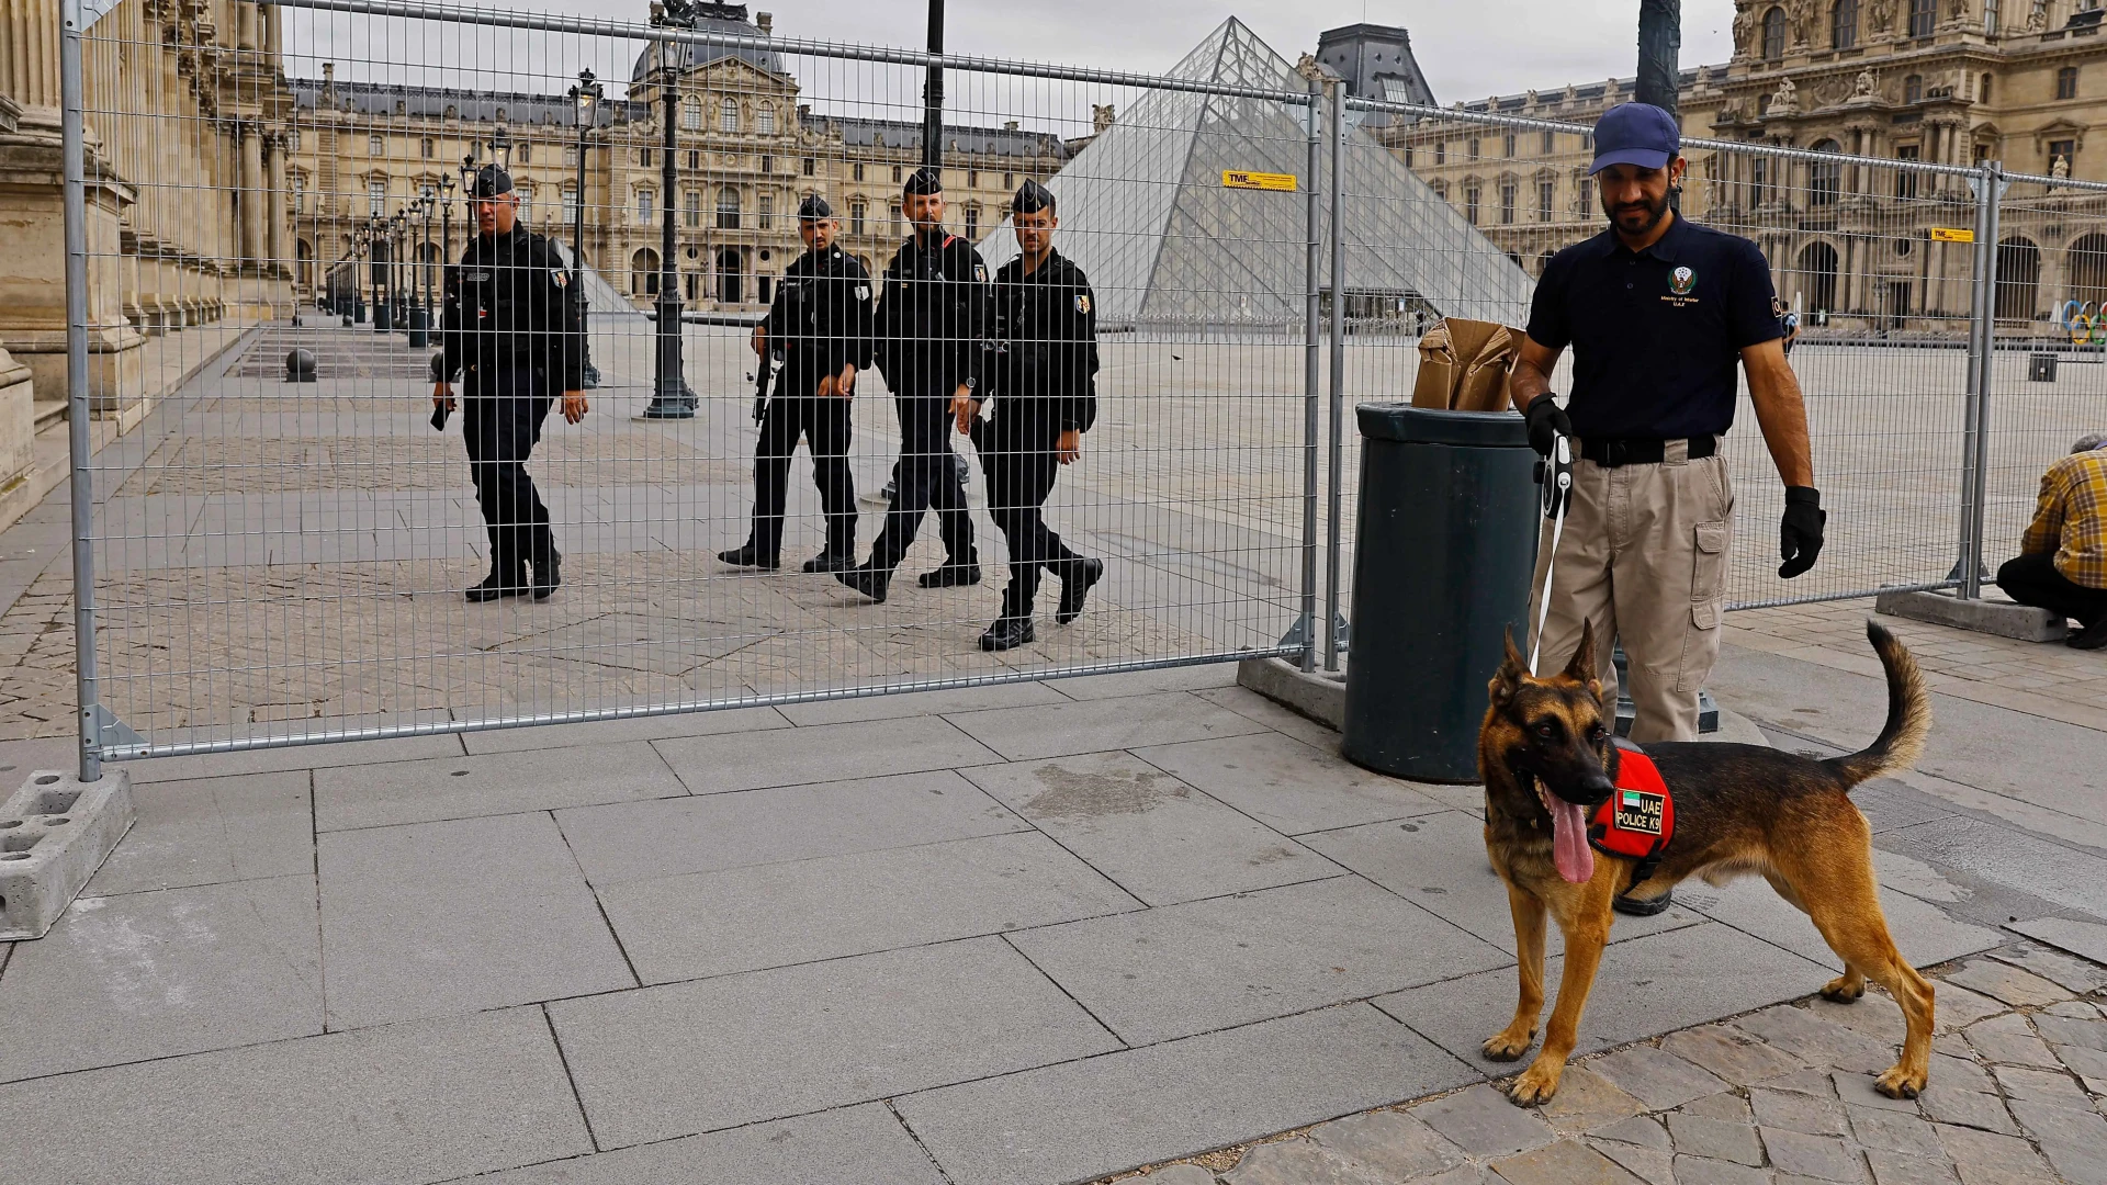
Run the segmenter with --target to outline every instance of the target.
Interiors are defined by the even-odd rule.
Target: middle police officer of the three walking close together
[[[973,523],[950,451],[952,399],[980,386],[988,327],[988,266],[973,245],[944,230],[944,173],[923,167],[908,177],[902,213],[914,234],[885,266],[877,314],[877,358],[900,413],[900,477],[885,529],[860,567],[836,571],[849,588],[885,601],[893,569],[914,542],[925,510],[938,512],[944,565],[925,571],[923,588],[980,584]]]

